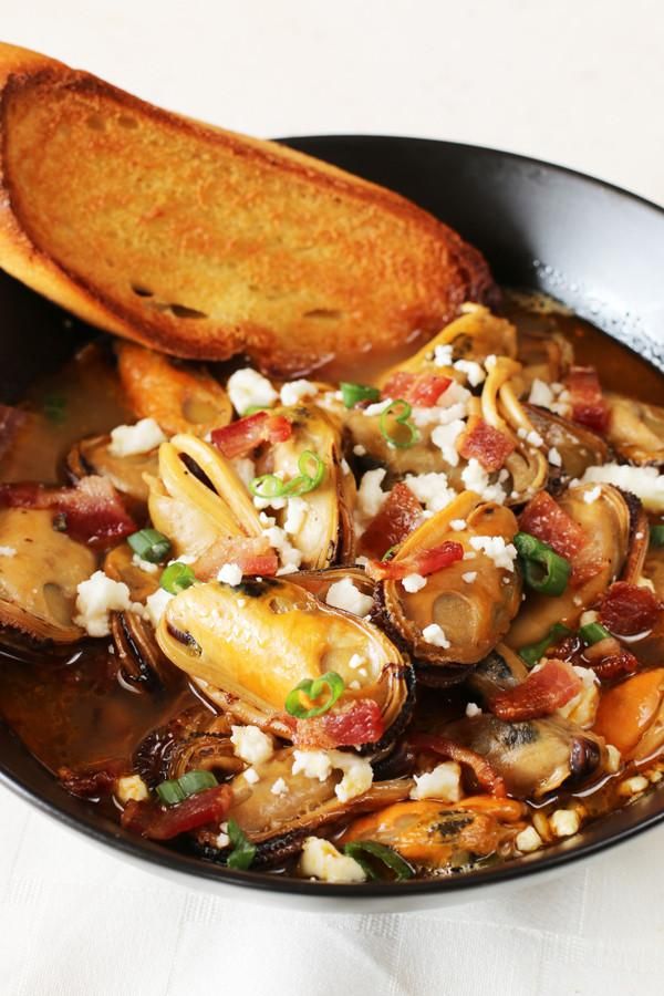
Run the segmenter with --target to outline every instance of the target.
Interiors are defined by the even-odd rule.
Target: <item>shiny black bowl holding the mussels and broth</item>
[[[664,370],[661,208],[569,169],[476,146],[357,135],[288,144],[405,194],[478,246],[499,282],[551,293]],[[13,402],[35,375],[58,366],[81,343],[81,328],[3,274],[0,314],[0,400]],[[436,881],[329,885],[234,872],[132,837],[93,803],[65,795],[2,724],[0,778],[43,811],[146,868],[188,873],[190,884],[204,888],[229,883],[281,894],[284,902],[289,895],[318,899],[323,907],[325,898],[336,905],[340,896],[385,900],[393,909],[402,906],[396,896],[408,896],[411,907],[443,905],[459,891],[476,899],[481,886],[551,871],[664,820],[664,793],[655,791],[579,837],[517,862]],[[353,905],[362,903],[355,899]]]

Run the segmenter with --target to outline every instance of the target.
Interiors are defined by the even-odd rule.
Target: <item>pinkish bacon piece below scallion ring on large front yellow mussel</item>
[[[298,719],[293,744],[307,750],[332,750],[375,744],[385,733],[383,715],[373,698],[356,698],[339,712]]]

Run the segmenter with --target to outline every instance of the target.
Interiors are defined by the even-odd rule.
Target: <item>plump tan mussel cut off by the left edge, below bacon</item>
[[[76,588],[94,572],[94,553],[53,528],[46,509],[0,510],[0,623],[38,640],[72,643]]]

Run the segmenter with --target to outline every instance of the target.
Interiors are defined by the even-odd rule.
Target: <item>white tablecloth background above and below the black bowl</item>
[[[256,135],[453,138],[664,201],[661,0],[0,0],[0,38]],[[664,831],[437,914],[277,914],[129,870],[0,791],[7,996],[664,992]]]

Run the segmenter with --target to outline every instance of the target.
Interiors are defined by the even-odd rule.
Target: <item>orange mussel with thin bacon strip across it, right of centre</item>
[[[387,624],[416,662],[475,664],[502,639],[521,598],[521,579],[509,549],[517,528],[508,508],[464,491],[406,538],[395,563],[445,541],[460,543],[465,554],[464,560],[430,574],[414,593],[401,581],[378,583],[377,598]],[[505,566],[497,566],[487,554],[492,542],[501,548]],[[443,631],[436,643],[424,636],[432,625]]]

